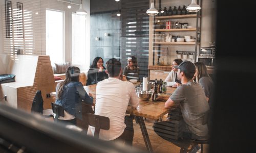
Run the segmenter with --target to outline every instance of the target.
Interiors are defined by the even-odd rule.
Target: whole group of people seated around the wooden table
[[[135,86],[127,81],[128,77],[134,77],[127,74],[139,73],[136,58],[129,57],[127,66],[122,70],[121,63],[117,59],[110,59],[104,67],[103,59],[97,57],[90,68],[97,73],[95,77],[88,72],[87,81],[87,85],[97,84],[95,114],[110,118],[110,130],[101,130],[99,138],[107,141],[124,141],[132,145],[133,116],[127,116],[125,111],[129,104],[133,108],[139,105]],[[87,94],[79,82],[79,73],[78,67],[69,67],[65,81],[56,87],[56,104],[61,105],[65,109],[65,115],[70,118],[76,117],[75,110],[76,104],[80,103],[79,99],[83,99],[87,104],[93,103],[92,94]],[[188,134],[184,137],[196,139],[208,137],[208,127],[203,124],[203,117],[212,103],[213,82],[206,66],[201,62],[193,64],[175,59],[172,71],[165,81],[167,86],[177,87],[165,102],[165,108],[180,107],[185,121],[184,129]],[[94,127],[90,127],[88,133],[93,134]]]

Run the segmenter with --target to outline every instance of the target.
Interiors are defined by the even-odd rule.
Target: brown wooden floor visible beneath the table
[[[163,117],[163,121],[166,120],[166,116]],[[133,139],[133,147],[139,148],[141,150],[146,151],[145,142],[143,136],[141,134],[140,126],[133,121],[134,123],[134,139]],[[147,133],[150,137],[150,141],[152,144],[152,148],[154,152],[169,152],[169,153],[176,153],[180,152],[180,147],[176,146],[175,144],[164,140],[163,138],[159,137],[154,129],[153,129],[154,120],[146,119],[145,125],[147,129]],[[207,153],[208,146],[204,145],[203,152]]]

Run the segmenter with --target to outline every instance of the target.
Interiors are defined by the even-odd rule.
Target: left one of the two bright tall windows
[[[52,66],[64,61],[63,14],[62,11],[46,10],[46,55],[50,56]]]

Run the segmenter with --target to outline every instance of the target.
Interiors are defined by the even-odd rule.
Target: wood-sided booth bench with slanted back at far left
[[[15,82],[0,84],[0,97],[7,95],[6,104],[30,112],[36,90],[41,90],[44,109],[51,109],[55,83],[49,56],[0,56],[0,73],[15,74]]]

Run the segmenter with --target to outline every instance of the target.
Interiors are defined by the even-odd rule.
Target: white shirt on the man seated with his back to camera
[[[110,118],[110,130],[100,129],[99,139],[114,140],[123,133],[128,104],[133,108],[139,105],[139,98],[131,82],[109,78],[97,84],[95,114]],[[90,129],[94,134],[95,128],[90,126]]]

